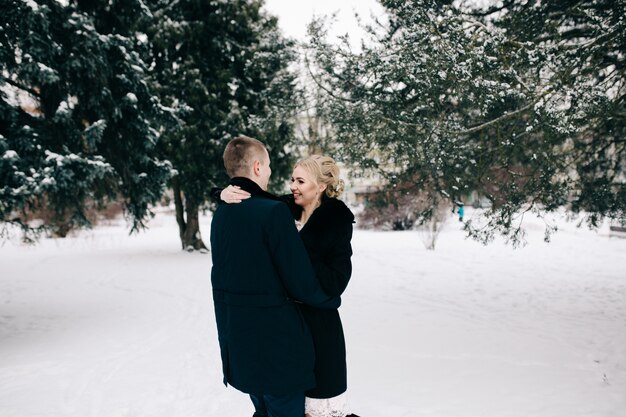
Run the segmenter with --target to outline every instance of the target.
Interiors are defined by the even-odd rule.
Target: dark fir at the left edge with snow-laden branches
[[[145,12],[141,1],[65,3],[0,2],[0,221],[64,234],[122,199],[137,229],[171,173],[153,127],[171,117],[128,26]],[[27,221],[45,207],[47,224]]]

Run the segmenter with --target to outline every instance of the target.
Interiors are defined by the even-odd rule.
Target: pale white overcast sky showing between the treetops
[[[337,14],[337,22],[333,24],[331,34],[341,35],[346,32],[355,40],[361,37],[354,12],[369,21],[371,12],[381,15],[382,7],[376,0],[265,0],[266,9],[278,16],[279,25],[285,35],[304,40],[306,26],[314,15]]]

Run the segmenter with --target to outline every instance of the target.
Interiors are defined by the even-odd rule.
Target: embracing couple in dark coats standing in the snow
[[[211,223],[224,383],[250,395],[254,417],[345,417],[337,309],[354,216],[336,198],[339,168],[319,155],[299,161],[292,194],[274,196],[267,149],[246,136],[228,143],[224,166],[230,185],[215,191],[222,204]]]

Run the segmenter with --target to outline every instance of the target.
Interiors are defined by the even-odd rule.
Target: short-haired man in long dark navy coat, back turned
[[[260,141],[228,143],[230,184],[251,194],[222,204],[211,223],[211,283],[224,384],[250,394],[254,417],[302,417],[315,386],[314,350],[294,300],[338,307],[315,278],[287,205],[267,192],[269,154]]]

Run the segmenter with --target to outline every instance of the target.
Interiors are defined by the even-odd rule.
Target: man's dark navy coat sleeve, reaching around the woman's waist
[[[338,308],[339,297],[330,297],[315,277],[311,261],[285,204],[277,204],[269,215],[265,236],[287,294],[305,304]]]

